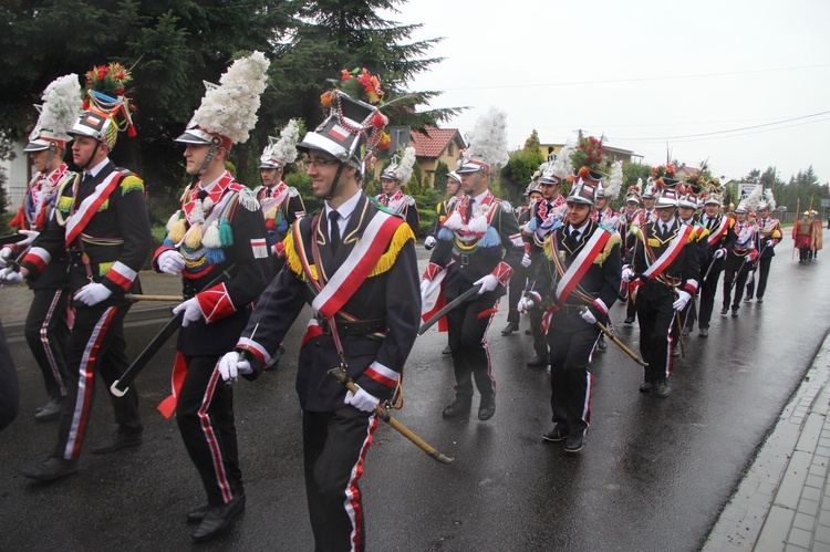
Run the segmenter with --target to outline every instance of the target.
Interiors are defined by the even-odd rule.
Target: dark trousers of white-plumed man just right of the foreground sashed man
[[[497,304],[489,293],[485,293],[447,313],[457,395],[471,397],[474,378],[481,396],[496,394],[486,334]]]

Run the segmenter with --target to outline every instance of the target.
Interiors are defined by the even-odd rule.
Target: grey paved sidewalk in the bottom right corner
[[[830,336],[704,551],[830,552]]]

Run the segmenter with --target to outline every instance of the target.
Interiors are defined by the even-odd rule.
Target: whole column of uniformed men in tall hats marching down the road
[[[490,189],[508,160],[506,115],[495,107],[478,119],[447,177],[448,197],[426,232],[430,257],[421,273],[421,220],[405,192],[415,149],[392,153],[381,194],[364,191],[390,123],[381,113],[380,81],[365,70],[343,72],[344,80],[360,80],[361,97],[339,87],[321,96],[328,116],[302,140],[295,121],[269,138],[261,184],[246,186],[226,169],[234,145],[257,123],[268,67],[253,52],[235,61],[218,85],[207,85],[175,139],[184,146],[189,184],[152,256],[155,271],[181,279],[172,389],[158,410],[175,415],[205,489],[205,502],[181,512],[197,525],[196,542],[225,532],[246,507],[231,384],[239,376],[256,381],[276,365],[305,305],[312,317],[297,352],[295,388],[307,503],[315,550],[333,551],[365,548],[359,480],[377,408],[400,396],[422,320],[435,322],[442,311],[438,329],[448,334],[455,382],[440,412],[444,424],[466,420],[476,395],[477,418],[487,423],[496,414],[498,372],[488,330],[507,311],[501,335],[515,339],[507,336],[527,314],[527,365],[550,373],[553,426],[541,441],[564,441],[564,451],[575,455],[591,425],[594,353],[608,346],[605,333],[615,340],[615,302],[625,309],[625,324],[639,323],[639,390],[665,399],[684,340],[695,323],[699,337],[708,336],[716,299],[720,314],[732,317],[741,302],[764,301],[782,238],[770,217],[771,190],[756,186],[724,212],[717,181],[699,175],[682,181],[671,164],[623,190],[622,164],[603,160],[602,139],[581,137],[541,164],[526,205],[513,209]],[[138,273],[152,243],[144,181],[110,160],[118,133],[135,134],[129,81],[112,63],[86,74],[83,93],[74,74],[46,87],[25,147],[35,174],[11,222],[23,236],[0,248],[2,283],[25,281],[33,291],[25,337],[48,396],[34,418],[59,420],[54,451],[23,472],[39,481],[77,471],[95,374],[110,386],[129,366],[127,294],[141,295]],[[63,162],[68,149],[77,171]],[[299,154],[322,202],[309,213],[283,181]],[[611,204],[621,194],[624,205],[615,210]],[[792,229],[801,263],[821,249],[816,215],[806,211]],[[427,304],[434,306],[422,313]],[[0,356],[7,350],[0,340]],[[335,367],[349,387],[332,377]],[[0,428],[17,415],[13,376],[0,373],[0,396],[10,397],[0,403]],[[110,398],[117,427],[95,454],[143,441],[135,387]]]

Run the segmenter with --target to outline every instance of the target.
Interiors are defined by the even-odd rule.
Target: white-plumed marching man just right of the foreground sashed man
[[[525,250],[512,208],[489,189],[492,165],[508,160],[506,117],[492,107],[476,123],[457,169],[465,196],[444,221],[422,277],[422,293],[427,294],[433,281],[446,270],[447,302],[478,288],[473,298],[447,313],[456,383],[455,400],[442,413],[445,418],[469,415],[474,383],[481,395],[478,419],[488,420],[496,414],[487,330]]]

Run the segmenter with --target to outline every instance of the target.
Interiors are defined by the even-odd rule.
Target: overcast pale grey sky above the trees
[[[668,143],[716,176],[812,165],[830,183],[830,0],[409,0],[392,19],[445,38],[411,83],[470,107],[445,127],[496,105],[511,148],[582,128],[650,165]]]

